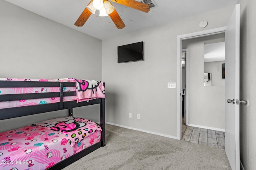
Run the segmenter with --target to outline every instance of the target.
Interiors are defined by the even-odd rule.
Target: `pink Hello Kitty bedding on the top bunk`
[[[63,101],[76,100],[83,102],[95,98],[105,98],[104,82],[96,80],[80,80],[75,78],[63,79],[22,79],[22,78],[0,78],[3,81],[44,81],[44,82],[76,82],[76,87],[63,87],[64,92],[76,91],[76,96],[63,97]],[[29,94],[29,93],[46,93],[46,92],[60,92],[59,87],[26,87],[26,88],[0,88],[0,95],[2,94]],[[60,98],[42,98],[19,101],[4,101],[0,102],[0,109],[10,107],[22,107],[38,104],[49,104],[60,102]]]

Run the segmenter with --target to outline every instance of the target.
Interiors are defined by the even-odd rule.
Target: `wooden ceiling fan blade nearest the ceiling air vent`
[[[136,0],[111,0],[112,2],[116,2],[118,4],[122,4],[131,8],[134,8],[136,10],[140,10],[142,12],[148,13],[150,8],[147,4],[144,4],[142,2],[138,2]]]

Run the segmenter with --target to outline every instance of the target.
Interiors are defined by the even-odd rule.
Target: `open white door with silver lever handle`
[[[240,53],[240,4],[237,4],[225,32],[226,41],[226,127],[225,150],[232,170],[240,170],[239,141],[239,53]]]

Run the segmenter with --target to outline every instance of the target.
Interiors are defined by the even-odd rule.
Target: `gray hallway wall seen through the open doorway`
[[[188,125],[225,129],[225,86],[204,86],[204,44],[225,41],[224,34],[199,37],[182,41],[182,49],[188,49]],[[220,75],[222,76],[222,75]],[[212,74],[212,82],[214,75]]]

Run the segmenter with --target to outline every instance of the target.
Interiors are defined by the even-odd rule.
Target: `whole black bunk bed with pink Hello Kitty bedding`
[[[6,89],[15,92],[5,93]],[[86,90],[90,95],[79,98],[84,97],[81,92]],[[97,92],[100,95],[95,95]],[[31,102],[38,99],[43,100]],[[46,102],[47,99],[52,102]],[[15,106],[10,104],[15,102],[18,103]],[[100,105],[100,123],[73,117],[73,108],[94,104]],[[58,170],[106,145],[104,82],[0,78],[0,120],[64,109],[68,109],[68,117],[35,122],[6,132],[0,130],[0,170]]]

